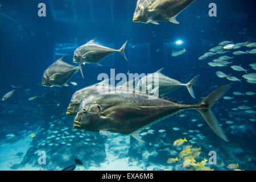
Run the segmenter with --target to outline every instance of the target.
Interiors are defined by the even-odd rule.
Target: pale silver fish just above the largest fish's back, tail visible
[[[163,68],[162,68],[163,69]],[[186,86],[188,89],[189,94],[191,97],[196,98],[195,94],[193,92],[193,84],[195,84],[197,78],[199,75],[192,78],[191,81],[189,81],[187,84],[183,84],[180,81],[177,81],[175,79],[172,79],[170,77],[167,77],[161,73],[162,69],[159,69],[155,73],[152,73],[150,75],[147,75],[145,77],[142,77],[141,80],[139,80],[136,90],[143,90],[143,86],[146,86],[147,89],[154,89],[155,79],[158,78],[158,86],[159,86],[159,95],[164,96],[164,94],[170,93],[178,88],[180,86]],[[148,77],[152,77],[150,82],[148,82]]]

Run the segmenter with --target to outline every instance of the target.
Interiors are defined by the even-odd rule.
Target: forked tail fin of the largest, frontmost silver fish
[[[200,102],[201,107],[197,109],[210,126],[210,129],[212,129],[214,133],[218,135],[218,137],[224,139],[226,142],[229,142],[229,140],[210,108],[231,88],[230,85],[231,84],[222,85],[220,88],[214,90],[207,97],[205,97],[203,101]]]

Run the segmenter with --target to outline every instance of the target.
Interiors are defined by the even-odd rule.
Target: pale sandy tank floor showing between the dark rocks
[[[126,153],[129,147],[130,137],[121,137],[120,135],[112,135],[113,138],[109,139],[107,143],[105,143],[105,151],[106,151],[106,162],[101,163],[100,167],[90,166],[89,168],[85,168],[84,166],[77,166],[75,171],[144,171],[143,166],[138,166],[137,163],[128,162],[129,158],[118,159],[118,155],[114,155],[113,150],[117,150],[118,153]],[[11,139],[11,138],[10,138]],[[122,144],[120,146],[119,142],[123,140],[126,144]],[[32,142],[31,137],[24,137],[22,139],[16,140],[13,143],[3,143],[1,142],[0,146],[0,170],[1,171],[39,171],[44,170],[38,167],[32,167],[27,164],[25,167],[19,167],[18,169],[11,169],[10,167],[13,164],[19,164],[22,162],[23,156],[26,154],[28,148],[30,148]],[[18,152],[22,152],[23,154],[18,156],[16,155]],[[172,170],[172,167],[169,166],[149,166],[147,170],[152,170],[154,168],[162,168],[164,170]]]

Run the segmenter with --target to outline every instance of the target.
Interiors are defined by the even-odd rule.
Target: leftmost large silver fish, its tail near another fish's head
[[[75,67],[71,64],[65,63],[63,57],[55,61],[50,65],[46,71],[44,71],[42,85],[43,86],[68,86],[68,80],[80,69],[81,75],[82,68],[81,62],[78,67]]]

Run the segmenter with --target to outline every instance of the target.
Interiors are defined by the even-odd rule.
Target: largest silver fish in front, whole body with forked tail
[[[211,107],[229,89],[230,84],[214,90],[199,104],[181,104],[167,98],[148,99],[149,94],[141,93],[102,93],[89,96],[82,101],[79,112],[73,121],[73,128],[106,133],[131,134],[140,140],[138,131],[160,119],[178,111],[196,109],[210,128],[220,138],[228,141]]]

